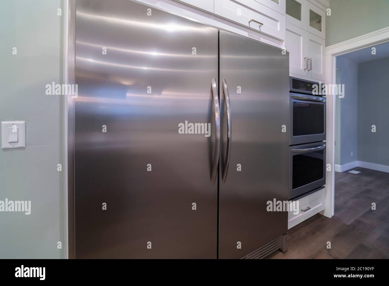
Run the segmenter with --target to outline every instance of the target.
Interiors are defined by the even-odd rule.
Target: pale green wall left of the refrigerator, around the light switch
[[[64,257],[63,97],[45,93],[62,83],[62,6],[0,1],[0,121],[26,122],[26,148],[0,148],[0,201],[31,201],[30,215],[0,212],[0,258]]]

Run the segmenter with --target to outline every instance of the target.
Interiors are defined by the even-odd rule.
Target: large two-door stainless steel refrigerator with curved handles
[[[266,207],[288,199],[288,54],[140,3],[76,0],[75,83],[76,258],[285,250],[287,212]]]

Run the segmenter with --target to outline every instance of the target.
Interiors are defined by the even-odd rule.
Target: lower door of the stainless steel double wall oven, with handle
[[[289,199],[325,185],[326,143],[289,147]]]

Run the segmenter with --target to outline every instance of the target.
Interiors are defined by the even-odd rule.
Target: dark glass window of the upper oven
[[[323,134],[324,105],[293,102],[293,136]]]

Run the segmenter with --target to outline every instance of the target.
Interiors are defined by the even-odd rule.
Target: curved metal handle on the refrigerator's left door
[[[211,174],[211,183],[215,185],[217,167],[219,166],[219,153],[220,153],[220,108],[219,108],[219,96],[217,95],[217,86],[216,79],[212,78],[212,96],[214,99],[214,108],[215,108],[215,153],[214,153],[214,162],[212,165],[212,174]]]

